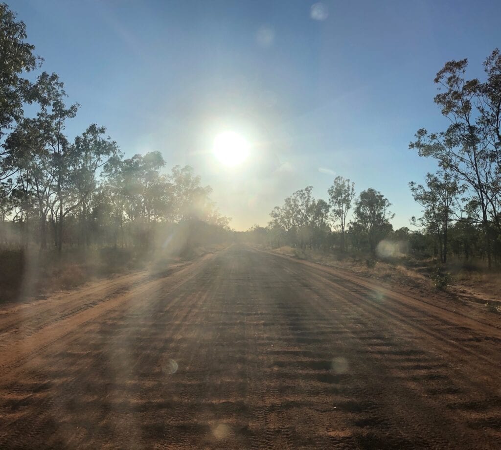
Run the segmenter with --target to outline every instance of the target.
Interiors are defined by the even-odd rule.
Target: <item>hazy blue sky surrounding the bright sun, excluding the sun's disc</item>
[[[499,0],[6,1],[82,105],[71,138],[97,123],[127,156],[193,166],[237,230],[307,185],[327,198],[337,174],[380,190],[408,226],[407,183],[435,169],[409,141],[447,124],[435,73],[468,58],[481,75],[501,46]],[[251,144],[236,168],[211,152],[223,131]]]

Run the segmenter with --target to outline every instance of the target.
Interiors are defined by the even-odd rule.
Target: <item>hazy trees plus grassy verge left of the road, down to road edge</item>
[[[97,124],[71,140],[80,105],[26,39],[0,4],[0,301],[189,259],[229,239],[229,219],[191,167],[167,172],[159,151],[125,158]]]

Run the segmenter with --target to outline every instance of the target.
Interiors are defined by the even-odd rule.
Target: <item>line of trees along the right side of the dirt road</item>
[[[501,53],[485,60],[483,80],[467,79],[468,61],[449,61],[435,78],[434,101],[450,125],[428,133],[420,129],[410,149],[434,158],[436,173],[409,187],[422,207],[410,222],[418,231],[393,230],[391,203],[369,188],[355,196],[354,183],[338,176],[327,200],[313,198],[312,186],[294,192],[270,213],[267,228],[255,226],[249,238],[273,247],[339,249],[372,253],[410,252],[450,255],[501,263]],[[352,219],[348,221],[350,211]]]

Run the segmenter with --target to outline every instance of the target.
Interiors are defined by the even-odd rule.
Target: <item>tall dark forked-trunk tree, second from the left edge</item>
[[[66,120],[75,117],[79,105],[66,107],[64,84],[56,74],[42,73],[34,90],[40,105],[37,117],[20,120],[4,147],[20,171],[18,182],[26,182],[37,198],[41,249],[47,246],[50,212],[55,244],[61,250],[64,217],[78,206],[70,175],[76,155],[63,132]]]

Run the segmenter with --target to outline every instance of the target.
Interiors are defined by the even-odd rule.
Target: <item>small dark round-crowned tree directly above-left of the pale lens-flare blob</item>
[[[355,221],[367,234],[369,248],[373,253],[379,241],[391,232],[389,219],[395,214],[388,210],[390,206],[388,199],[371,187],[360,192],[355,201]]]

